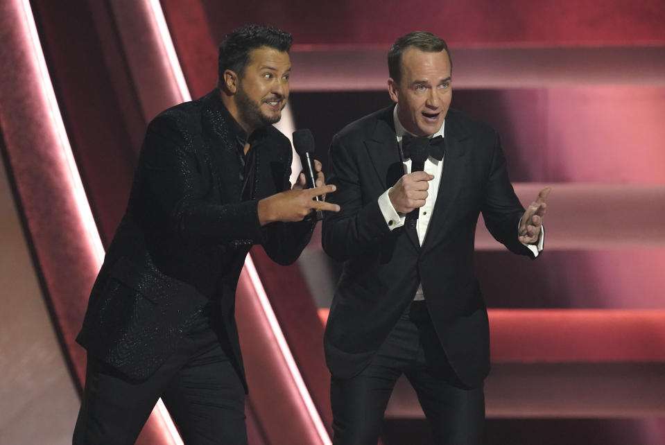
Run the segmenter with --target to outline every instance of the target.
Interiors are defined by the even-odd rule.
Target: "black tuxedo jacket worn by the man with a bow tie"
[[[392,110],[347,125],[331,143],[328,180],[337,191],[328,200],[341,211],[326,215],[322,243],[344,266],[326,326],[327,364],[340,378],[360,372],[422,282],[451,365],[463,383],[476,386],[490,368],[487,311],[474,271],[478,213],[496,240],[531,254],[517,240],[524,208],[496,132],[449,110],[442,177],[422,247],[415,229],[391,232],[377,200],[404,175]]]

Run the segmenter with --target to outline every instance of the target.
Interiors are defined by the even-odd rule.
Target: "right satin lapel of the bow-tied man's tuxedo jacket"
[[[467,171],[468,148],[465,147],[465,143],[463,142],[466,139],[465,134],[454,127],[454,122],[449,123],[448,121],[446,122],[444,132],[446,152],[443,159],[443,171],[441,181],[439,182],[439,190],[436,195],[432,219],[429,222],[427,236],[423,241],[423,249],[433,245],[436,238],[442,235],[444,230],[447,229],[446,215],[451,211],[458,211],[458,209],[452,209],[452,204],[462,189],[464,175],[469,174],[469,171]]]

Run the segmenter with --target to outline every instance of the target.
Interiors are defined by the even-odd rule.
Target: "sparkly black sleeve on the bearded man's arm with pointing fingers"
[[[259,243],[257,202],[209,202],[205,166],[182,127],[171,116],[159,116],[148,126],[135,183],[146,220],[195,243]]]

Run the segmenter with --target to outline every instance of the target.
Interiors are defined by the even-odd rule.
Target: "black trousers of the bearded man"
[[[146,381],[88,358],[74,445],[131,445],[159,397],[187,445],[246,445],[245,389],[227,344],[201,320]]]

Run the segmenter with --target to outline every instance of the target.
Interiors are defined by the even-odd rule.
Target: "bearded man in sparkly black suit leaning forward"
[[[318,173],[291,188],[291,35],[245,26],[219,49],[218,86],[148,125],[125,216],[90,296],[74,444],[133,444],[161,396],[184,442],[246,444],[235,289],[250,247],[292,263],[309,242]],[[320,172],[320,163],[316,163]]]

